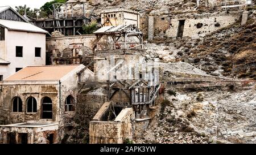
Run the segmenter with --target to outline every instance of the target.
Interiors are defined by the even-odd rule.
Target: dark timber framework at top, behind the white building
[[[30,22],[49,33],[57,30],[71,36],[82,35],[82,26],[90,23],[90,19],[85,15],[85,3],[67,2],[53,4],[52,18],[30,19]]]

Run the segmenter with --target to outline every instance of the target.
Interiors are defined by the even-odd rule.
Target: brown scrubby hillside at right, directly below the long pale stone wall
[[[240,19],[197,39],[156,36],[144,46],[147,56],[187,62],[213,76],[256,79],[256,10],[249,14],[245,25]]]

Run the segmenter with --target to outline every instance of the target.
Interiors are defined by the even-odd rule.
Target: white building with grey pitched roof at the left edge
[[[0,7],[0,80],[23,67],[46,64],[46,33],[13,8]]]

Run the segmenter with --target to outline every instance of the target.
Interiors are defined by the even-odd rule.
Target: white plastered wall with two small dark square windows
[[[6,31],[5,60],[11,62],[7,72],[0,70],[3,79],[15,73],[15,68],[42,66],[46,64],[46,35],[21,31]],[[23,46],[23,57],[16,57],[16,46]],[[41,57],[35,57],[35,47],[41,48]],[[1,54],[2,55],[2,54]]]

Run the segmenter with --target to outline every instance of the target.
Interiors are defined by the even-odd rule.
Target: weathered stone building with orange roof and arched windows
[[[1,143],[59,143],[76,111],[82,64],[26,67],[1,82]]]

